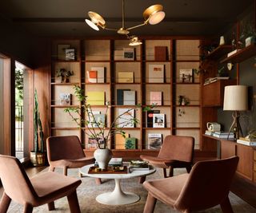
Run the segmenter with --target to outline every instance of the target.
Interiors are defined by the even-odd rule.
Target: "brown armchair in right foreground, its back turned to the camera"
[[[228,197],[238,166],[238,156],[194,164],[190,174],[143,183],[148,192],[145,213],[154,212],[156,200],[174,209],[190,213],[221,205],[222,212],[232,213]]]

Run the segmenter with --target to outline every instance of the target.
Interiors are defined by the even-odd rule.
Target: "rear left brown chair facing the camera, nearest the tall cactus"
[[[78,136],[50,136],[46,140],[49,170],[63,168],[67,175],[67,168],[81,168],[87,164],[94,164],[94,157],[86,157]],[[80,174],[81,176],[81,174]]]

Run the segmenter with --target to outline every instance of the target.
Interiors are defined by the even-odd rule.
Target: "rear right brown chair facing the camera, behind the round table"
[[[174,168],[186,168],[190,172],[194,157],[194,137],[191,136],[166,136],[158,156],[141,155],[142,160],[158,168],[163,168],[166,178],[166,168],[170,169],[169,176],[173,176]],[[143,180],[142,180],[143,182]]]

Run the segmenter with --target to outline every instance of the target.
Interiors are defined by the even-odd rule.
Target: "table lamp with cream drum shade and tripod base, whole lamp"
[[[239,111],[246,111],[248,109],[248,92],[245,85],[231,85],[225,87],[223,110],[234,111],[233,123],[230,126],[230,131],[227,139],[230,136],[231,130],[234,131],[234,139],[239,139],[239,132],[242,135],[242,128],[239,123]]]

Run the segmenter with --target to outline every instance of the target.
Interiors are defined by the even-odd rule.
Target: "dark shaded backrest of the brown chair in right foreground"
[[[174,206],[178,210],[199,211],[222,203],[230,191],[238,160],[234,156],[194,164]]]

